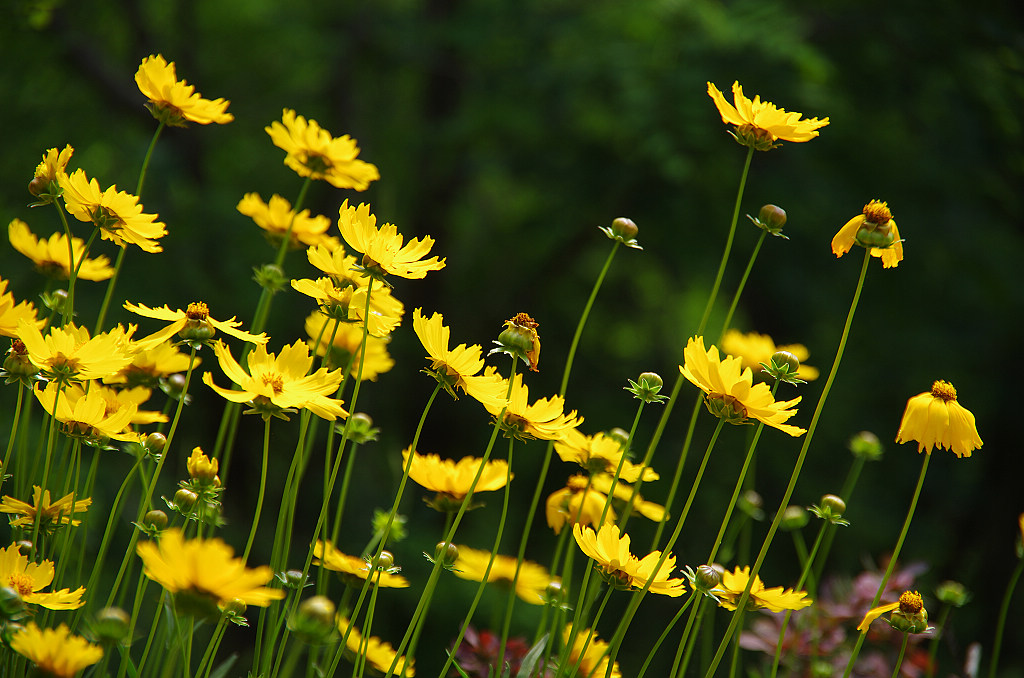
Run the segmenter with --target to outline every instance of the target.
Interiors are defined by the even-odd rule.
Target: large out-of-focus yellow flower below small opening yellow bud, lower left
[[[217,605],[237,598],[260,607],[285,597],[282,589],[264,586],[273,579],[270,567],[246,567],[246,561],[236,558],[233,549],[219,539],[186,542],[181,531],[172,527],[161,534],[159,544],[143,542],[135,552],[142,558],[143,574],[168,593],[186,593]]]

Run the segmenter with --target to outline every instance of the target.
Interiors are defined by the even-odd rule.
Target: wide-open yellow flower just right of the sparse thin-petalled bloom
[[[209,372],[203,374],[203,382],[232,402],[251,402],[250,412],[284,417],[286,412],[305,409],[329,421],[348,416],[341,400],[331,397],[341,384],[341,370],[329,372],[321,368],[310,373],[313,358],[309,344],[304,341],[285,346],[278,355],[267,353],[263,344],[257,345],[248,355],[248,373],[231,356],[224,342],[216,342],[213,352],[220,369],[241,390],[217,386]]]

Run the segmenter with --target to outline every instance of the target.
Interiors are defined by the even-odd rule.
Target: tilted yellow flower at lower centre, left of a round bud
[[[670,553],[655,570],[662,552],[651,551],[638,559],[630,552],[630,536],[620,535],[617,525],[601,525],[600,532],[595,533],[590,527],[575,524],[572,525],[572,537],[612,586],[640,590],[650,581],[647,590],[651,593],[675,598],[686,592],[683,580],[669,579],[676,567],[674,555]]]

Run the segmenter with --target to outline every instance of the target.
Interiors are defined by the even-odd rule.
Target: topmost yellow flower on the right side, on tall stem
[[[770,101],[762,101],[760,95],[752,101],[743,95],[743,88],[738,82],[732,83],[735,105],[726,101],[718,87],[710,82],[708,95],[715,101],[722,122],[736,126],[736,140],[758,151],[775,147],[777,139],[810,141],[818,135],[819,128],[828,124],[827,118],[802,120],[801,114],[786,113]]]

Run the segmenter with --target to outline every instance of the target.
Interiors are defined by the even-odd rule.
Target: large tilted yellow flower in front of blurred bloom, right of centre
[[[706,350],[703,337],[691,337],[683,357],[685,364],[679,371],[708,394],[705,402],[715,416],[731,423],[742,423],[751,417],[795,437],[806,432],[783,423],[797,414],[792,408],[800,397],[776,400],[767,384],[754,383],[754,373],[743,369],[741,358],[719,357],[717,346]]]

